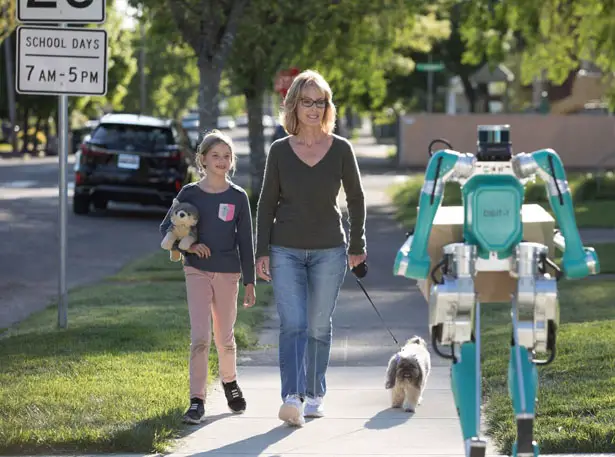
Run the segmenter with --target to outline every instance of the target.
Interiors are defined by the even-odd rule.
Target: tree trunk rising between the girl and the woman
[[[258,200],[265,173],[265,133],[263,131],[264,84],[260,75],[255,75],[253,89],[245,92],[248,109],[248,144],[250,145],[250,191],[252,202]]]

